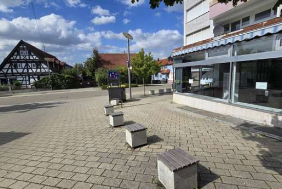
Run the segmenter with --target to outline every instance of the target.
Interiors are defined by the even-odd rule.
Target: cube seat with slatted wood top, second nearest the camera
[[[132,124],[125,127],[126,141],[132,147],[147,144],[147,128],[142,124]]]

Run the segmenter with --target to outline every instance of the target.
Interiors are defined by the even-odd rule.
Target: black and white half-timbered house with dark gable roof
[[[55,56],[37,49],[21,40],[0,65],[0,84],[11,85],[19,81],[22,85],[31,86],[34,81],[48,75],[49,58],[50,74],[61,72],[68,65]]]

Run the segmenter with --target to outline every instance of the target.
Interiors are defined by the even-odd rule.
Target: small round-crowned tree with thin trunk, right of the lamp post
[[[132,59],[133,74],[143,79],[144,96],[145,93],[145,78],[155,75],[159,72],[161,65],[154,60],[151,52],[145,54],[142,48],[138,54]]]

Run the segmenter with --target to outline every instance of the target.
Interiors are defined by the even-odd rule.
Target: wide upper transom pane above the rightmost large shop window
[[[246,55],[254,53],[264,53],[273,50],[273,38],[260,39],[255,41],[243,42],[234,45],[234,55]]]

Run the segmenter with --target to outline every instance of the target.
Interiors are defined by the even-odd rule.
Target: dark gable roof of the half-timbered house
[[[59,59],[57,59],[57,57],[46,53],[42,50],[39,50],[38,48],[36,48],[35,46],[27,43],[24,40],[20,40],[17,45],[14,47],[14,49],[10,52],[10,54],[3,60],[3,62],[0,64],[0,69],[3,68],[3,66],[7,63],[7,61],[10,59],[10,57],[15,53],[15,51],[18,49],[18,47],[24,44],[41,62],[45,63],[47,65],[47,62],[44,60],[44,58],[50,58],[52,61],[50,63],[56,63],[59,64],[61,66],[67,65],[66,62],[62,62]],[[50,67],[50,69],[52,69]]]

